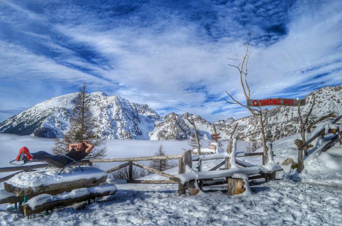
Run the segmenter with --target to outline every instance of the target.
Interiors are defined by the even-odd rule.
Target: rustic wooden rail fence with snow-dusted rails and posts
[[[232,149],[232,140],[229,141],[228,148],[227,148],[227,153],[231,153]],[[213,159],[224,159],[224,161],[220,162],[216,166],[214,166],[212,169],[209,171],[214,171],[218,170],[220,167],[224,165],[225,169],[229,169],[229,157],[220,156],[222,153],[218,154],[209,154],[209,155],[195,155],[192,156],[192,153],[190,151],[185,151],[183,155],[168,155],[168,156],[147,156],[147,157],[131,157],[131,158],[111,158],[111,159],[90,159],[90,160],[82,160],[80,163],[82,165],[92,165],[93,163],[104,163],[104,162],[125,162],[119,166],[116,166],[114,168],[106,170],[107,173],[112,173],[114,171],[120,170],[124,167],[128,167],[128,180],[127,183],[136,183],[136,184],[179,184],[179,189],[178,193],[179,195],[182,195],[185,193],[185,189],[189,189],[190,193],[196,193],[196,187],[194,185],[194,182],[188,183],[186,185],[182,185],[181,182],[176,179],[175,175],[162,172],[153,168],[150,168],[148,166],[142,165],[140,163],[137,163],[138,161],[151,161],[151,160],[173,160],[173,159],[178,159],[179,163],[179,174],[185,173],[186,172],[186,166],[192,167],[192,162],[193,161],[198,161],[199,162],[199,168],[198,170],[201,171],[201,162],[202,161],[207,161],[207,160],[213,160]],[[249,157],[249,156],[264,156],[264,153],[237,153],[238,155],[236,157]],[[263,158],[264,159],[264,158]],[[252,164],[249,164],[245,161],[236,159],[236,164],[242,166],[242,167],[250,167],[254,166]],[[20,172],[29,172],[29,171],[34,171],[35,169],[38,168],[45,168],[47,167],[48,164],[36,164],[36,165],[26,165],[26,166],[14,166],[14,167],[3,167],[0,168],[0,172],[11,172],[11,171],[19,171],[14,174],[8,175],[6,177],[0,178],[0,182],[6,181],[10,179],[11,177],[15,176],[16,174]],[[161,176],[166,177],[166,180],[134,180],[133,179],[133,166],[142,168],[144,170],[147,170],[148,172],[151,173],[156,173]],[[270,176],[261,174],[261,175],[254,175],[250,176],[249,179],[257,179],[257,178],[271,178]],[[172,180],[170,180],[172,179]],[[225,180],[200,180],[199,181],[201,188],[202,186],[211,186],[211,185],[217,185],[217,184],[224,184],[227,183],[227,179]]]

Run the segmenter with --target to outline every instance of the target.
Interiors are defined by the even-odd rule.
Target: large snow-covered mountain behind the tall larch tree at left
[[[60,137],[69,128],[73,102],[77,93],[54,97],[36,104],[0,124],[0,133],[38,137]],[[147,105],[130,103],[119,95],[90,93],[91,111],[98,135],[108,139],[148,139],[148,132],[159,120]]]

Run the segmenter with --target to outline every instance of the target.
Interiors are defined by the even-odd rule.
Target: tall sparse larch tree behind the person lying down
[[[69,149],[69,144],[87,142],[95,146],[94,150],[88,154],[87,158],[103,158],[106,155],[106,139],[99,138],[93,131],[95,120],[90,111],[90,99],[83,84],[77,94],[72,115],[69,118],[69,130],[62,139],[56,138],[52,151],[55,155],[64,155]]]

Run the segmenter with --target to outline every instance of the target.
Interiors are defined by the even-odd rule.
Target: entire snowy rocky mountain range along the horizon
[[[342,85],[327,86],[313,92],[316,104],[310,120],[317,119],[329,112],[342,114]],[[0,123],[0,133],[34,135],[38,137],[61,137],[69,128],[74,99],[77,93],[57,96],[38,103],[29,109]],[[91,111],[96,120],[95,131],[107,139],[144,139],[144,140],[184,140],[189,139],[192,127],[186,120],[193,117],[202,139],[209,139],[213,133],[212,123],[199,115],[171,112],[160,117],[146,104],[131,103],[119,95],[107,96],[102,92],[89,93]],[[306,97],[303,106],[306,112],[311,104],[311,96]],[[270,140],[299,133],[297,107],[278,106],[264,109],[266,131]],[[235,135],[246,139],[259,139],[254,133],[259,128],[253,116],[238,120],[228,118],[214,123],[222,139],[229,138],[235,124]]]

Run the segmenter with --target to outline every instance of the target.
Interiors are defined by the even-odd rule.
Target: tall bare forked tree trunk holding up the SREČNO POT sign
[[[250,98],[250,88],[249,88],[249,85],[247,83],[247,73],[248,73],[247,66],[248,66],[248,59],[249,59],[249,55],[250,55],[250,51],[248,50],[248,48],[249,48],[249,42],[250,42],[251,38],[252,38],[252,34],[250,34],[250,36],[249,36],[249,39],[247,42],[247,48],[246,48],[245,54],[242,57],[242,59],[229,59],[228,58],[229,60],[240,60],[241,61],[241,63],[238,64],[237,66],[232,65],[232,64],[229,64],[229,66],[235,67],[238,70],[239,80],[240,80],[240,84],[242,87],[243,95],[245,96],[246,99]],[[231,101],[228,101],[225,99],[227,103],[239,104],[240,106],[247,108],[252,115],[254,115],[255,117],[258,118],[260,130],[261,130],[263,150],[264,150],[264,162],[267,163],[268,155],[267,155],[267,146],[266,146],[266,137],[265,137],[265,127],[264,127],[264,122],[263,122],[263,111],[262,111],[261,107],[259,106],[258,108],[253,108],[251,106],[242,104],[240,101],[236,100],[232,95],[230,95],[230,93],[228,91],[226,91],[226,93],[233,100],[233,102],[231,102]]]

